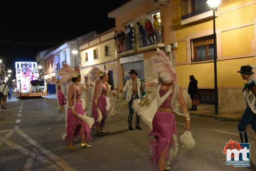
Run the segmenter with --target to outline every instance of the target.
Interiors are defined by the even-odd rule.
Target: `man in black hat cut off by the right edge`
[[[241,143],[248,142],[248,136],[246,127],[251,124],[253,130],[256,133],[256,78],[253,77],[252,67],[250,65],[241,66],[240,71],[241,77],[247,80],[244,84],[242,93],[245,96],[247,107],[244,110],[244,114],[238,125],[238,130],[241,138]]]

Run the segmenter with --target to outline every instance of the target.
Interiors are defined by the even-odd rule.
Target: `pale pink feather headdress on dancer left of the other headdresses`
[[[73,77],[79,77],[79,72],[75,71],[74,68],[70,67],[68,64],[63,64],[61,70],[58,72],[61,76],[61,82],[70,82]]]

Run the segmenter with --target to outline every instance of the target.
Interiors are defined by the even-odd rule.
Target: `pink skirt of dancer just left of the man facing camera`
[[[94,99],[93,99],[93,101],[94,101]],[[107,106],[106,96],[101,95],[98,100],[98,107],[102,113],[102,121],[99,123],[99,122],[96,122],[96,120],[99,118],[99,113],[97,111],[96,106],[93,103],[93,118],[95,119],[94,126],[97,126],[97,127],[105,126],[105,120],[106,120],[106,115],[107,115],[106,106]]]

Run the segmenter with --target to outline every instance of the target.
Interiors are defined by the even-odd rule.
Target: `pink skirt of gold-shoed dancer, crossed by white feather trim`
[[[84,115],[84,109],[82,107],[81,101],[76,102],[75,110],[78,114]],[[74,131],[74,126],[76,130]],[[74,134],[73,134],[74,131]],[[67,137],[66,140],[80,138],[82,134],[85,134],[86,141],[91,140],[90,127],[81,119],[74,116],[71,109],[67,110]]]

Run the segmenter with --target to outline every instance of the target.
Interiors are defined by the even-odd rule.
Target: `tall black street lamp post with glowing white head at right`
[[[217,85],[217,44],[215,30],[215,10],[221,3],[221,0],[207,0],[206,3],[213,11],[213,41],[214,41],[214,96],[215,96],[215,115],[218,115],[218,85]]]

